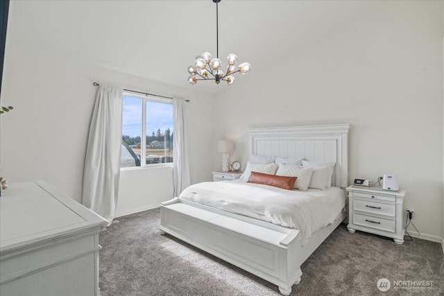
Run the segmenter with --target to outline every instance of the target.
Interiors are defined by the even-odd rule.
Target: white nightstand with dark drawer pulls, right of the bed
[[[404,243],[405,190],[383,191],[380,187],[348,186],[348,225],[357,230],[393,238]]]

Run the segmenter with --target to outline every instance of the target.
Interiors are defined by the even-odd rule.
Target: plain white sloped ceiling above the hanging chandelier
[[[219,3],[219,58],[235,53],[263,71],[293,49],[356,19],[377,1]],[[187,82],[196,55],[216,55],[216,4],[200,1],[11,1],[24,42],[135,76],[215,94],[230,87]],[[237,77],[237,83],[246,77]],[[235,87],[232,86],[232,87]]]

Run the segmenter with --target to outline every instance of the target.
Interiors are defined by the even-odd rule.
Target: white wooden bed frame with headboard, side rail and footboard
[[[287,128],[251,128],[248,153],[313,162],[336,162],[332,186],[348,186],[349,124]],[[205,252],[277,285],[282,295],[299,284],[300,265],[345,218],[318,230],[301,245],[300,233],[203,204],[174,198],[160,204],[160,232],[168,233]]]

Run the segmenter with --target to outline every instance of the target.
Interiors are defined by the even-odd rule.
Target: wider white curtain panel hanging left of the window
[[[109,223],[119,191],[123,90],[100,86],[92,114],[83,174],[82,204]]]

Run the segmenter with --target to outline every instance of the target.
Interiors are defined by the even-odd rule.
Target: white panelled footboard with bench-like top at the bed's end
[[[160,230],[266,279],[289,295],[299,284],[298,230],[174,198],[160,207]]]

